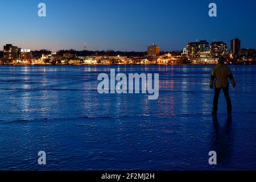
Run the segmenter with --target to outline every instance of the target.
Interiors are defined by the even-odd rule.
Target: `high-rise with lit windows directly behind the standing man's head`
[[[228,45],[224,42],[212,42],[210,44],[210,55],[212,58],[224,56],[228,52]]]

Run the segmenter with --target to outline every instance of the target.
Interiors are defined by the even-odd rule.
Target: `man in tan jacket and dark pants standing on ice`
[[[218,98],[220,97],[221,89],[224,92],[226,103],[228,105],[228,115],[232,115],[232,104],[229,97],[229,80],[231,81],[233,88],[236,86],[236,82],[234,80],[233,74],[230,71],[229,67],[224,64],[225,59],[223,56],[218,60],[218,65],[214,67],[212,71],[212,75],[210,76],[210,88],[213,89],[213,83],[215,80],[215,93],[213,99],[213,111],[212,115],[217,116],[218,111]]]

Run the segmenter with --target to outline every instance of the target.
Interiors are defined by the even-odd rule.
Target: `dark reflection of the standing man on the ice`
[[[212,134],[211,151],[217,153],[217,164],[225,166],[230,163],[233,150],[232,117],[228,117],[225,126],[220,126],[218,118],[213,118],[214,131]]]

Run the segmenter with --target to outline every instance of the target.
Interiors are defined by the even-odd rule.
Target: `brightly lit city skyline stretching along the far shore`
[[[228,64],[255,64],[256,49],[241,49],[241,40],[228,44],[209,43],[207,40],[187,43],[187,49],[178,52],[160,52],[152,42],[146,52],[76,51],[74,49],[31,51],[12,44],[3,46],[0,63],[3,64],[216,64],[221,56]]]

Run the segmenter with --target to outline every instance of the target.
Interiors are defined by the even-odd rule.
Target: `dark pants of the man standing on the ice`
[[[218,98],[220,97],[221,89],[224,92],[226,98],[226,104],[228,105],[228,113],[232,113],[232,104],[229,97],[229,88],[215,88],[214,100],[213,100],[213,111],[217,113],[218,111]]]

